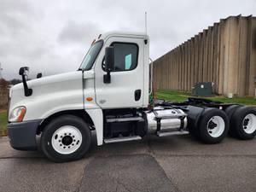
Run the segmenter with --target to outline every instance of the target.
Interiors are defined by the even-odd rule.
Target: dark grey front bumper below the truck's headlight
[[[37,150],[36,134],[41,119],[20,123],[9,123],[8,135],[12,148],[18,150]]]

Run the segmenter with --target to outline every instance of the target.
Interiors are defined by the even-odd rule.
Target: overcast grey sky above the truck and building
[[[74,71],[99,34],[145,32],[145,11],[155,60],[222,18],[256,16],[256,0],[0,0],[3,78]]]

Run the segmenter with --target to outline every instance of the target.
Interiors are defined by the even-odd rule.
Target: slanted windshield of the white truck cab
[[[79,67],[79,69],[82,69],[85,71],[90,70],[90,68],[93,66],[94,61],[96,60],[97,55],[102,49],[102,45],[103,45],[103,40],[100,40],[90,47],[87,54],[84,56],[84,60],[81,66]]]

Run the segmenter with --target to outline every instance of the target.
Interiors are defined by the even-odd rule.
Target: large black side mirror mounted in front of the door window
[[[110,72],[113,71],[113,63],[114,63],[113,47],[107,47],[105,49],[105,65],[106,65],[107,74],[105,74],[103,76],[104,84],[110,84],[111,83]]]

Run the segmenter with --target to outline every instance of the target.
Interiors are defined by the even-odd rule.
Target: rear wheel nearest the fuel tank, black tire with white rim
[[[226,137],[229,127],[229,118],[224,111],[207,108],[199,121],[199,137],[203,143],[220,143]]]

